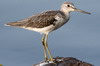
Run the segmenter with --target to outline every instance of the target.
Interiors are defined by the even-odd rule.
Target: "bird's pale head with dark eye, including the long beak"
[[[63,11],[64,13],[69,13],[69,12],[72,12],[72,11],[78,11],[78,12],[82,12],[82,13],[85,13],[85,14],[91,14],[89,12],[86,12],[86,11],[83,11],[83,10],[80,10],[80,9],[77,9],[73,3],[71,2],[64,2],[62,5],[61,5],[61,11]]]

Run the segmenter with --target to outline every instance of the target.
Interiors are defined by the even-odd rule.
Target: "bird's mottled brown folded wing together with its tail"
[[[55,16],[60,13],[60,11],[46,11],[37,15],[33,15],[29,18],[7,23],[9,26],[15,27],[33,27],[33,28],[43,28],[49,25],[55,25]]]

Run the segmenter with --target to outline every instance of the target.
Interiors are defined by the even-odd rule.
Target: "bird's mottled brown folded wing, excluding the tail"
[[[49,25],[55,25],[56,11],[47,11],[33,16],[25,25],[25,27],[43,28]]]

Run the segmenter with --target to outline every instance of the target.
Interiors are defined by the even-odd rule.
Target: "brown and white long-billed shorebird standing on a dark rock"
[[[45,11],[19,21],[9,22],[6,26],[19,27],[42,33],[44,58],[46,61],[53,61],[47,44],[48,34],[67,23],[70,19],[70,12],[72,11],[90,14],[89,12],[77,9],[71,2],[64,2],[59,10]]]

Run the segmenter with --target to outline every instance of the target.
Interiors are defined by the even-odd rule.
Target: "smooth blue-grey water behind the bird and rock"
[[[43,60],[42,35],[37,32],[5,27],[45,10],[56,10],[65,0],[0,0],[0,64],[32,66]],[[77,8],[91,12],[71,13],[70,21],[49,35],[49,47],[54,57],[75,57],[100,65],[100,1],[73,1]]]

